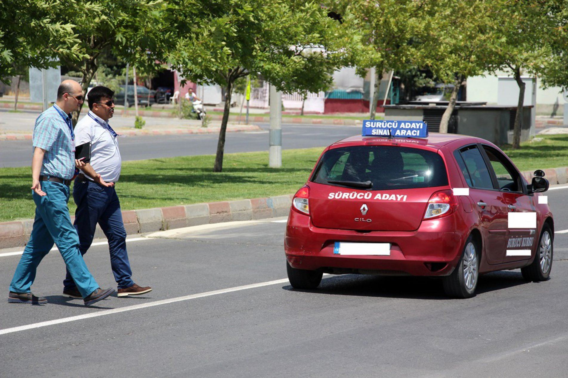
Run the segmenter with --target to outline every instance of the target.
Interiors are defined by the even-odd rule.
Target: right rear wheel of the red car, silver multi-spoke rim
[[[444,292],[455,298],[471,298],[475,296],[475,288],[479,280],[479,246],[469,236],[463,247],[458,265],[449,276],[444,277]]]

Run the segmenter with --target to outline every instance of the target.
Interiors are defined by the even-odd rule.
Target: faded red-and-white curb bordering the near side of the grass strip
[[[545,169],[551,185],[568,183],[568,167]],[[521,172],[531,182],[534,171]],[[293,195],[253,198],[234,201],[198,203],[122,212],[128,235],[170,230],[201,224],[266,219],[287,216]],[[74,217],[72,216],[73,220]],[[0,249],[24,246],[30,239],[33,219],[0,223]],[[97,225],[95,238],[105,235]]]

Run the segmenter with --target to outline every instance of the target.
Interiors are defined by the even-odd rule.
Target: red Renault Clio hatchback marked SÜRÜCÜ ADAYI
[[[294,288],[323,273],[440,276],[471,297],[480,273],[549,278],[554,222],[544,172],[528,184],[477,137],[356,136],[328,146],[295,194],[285,237]]]

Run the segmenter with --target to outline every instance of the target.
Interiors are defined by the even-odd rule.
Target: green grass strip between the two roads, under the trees
[[[542,138],[504,151],[521,171],[568,166],[568,135]],[[222,173],[212,172],[214,156],[124,162],[116,190],[124,210],[293,194],[322,150],[284,150],[281,169],[268,167],[267,152],[225,154]],[[0,169],[0,221],[34,217],[30,186],[30,167]]]

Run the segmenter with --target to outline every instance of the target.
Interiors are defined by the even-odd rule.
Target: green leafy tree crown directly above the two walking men
[[[85,94],[98,58],[108,51],[143,72],[160,69],[178,36],[193,32],[190,26],[201,9],[197,0],[68,0],[55,2],[53,8],[53,19],[71,24],[78,44],[76,53],[61,54],[59,47],[67,51],[70,42],[58,41],[52,53],[82,74]],[[80,111],[74,113],[74,122]]]

